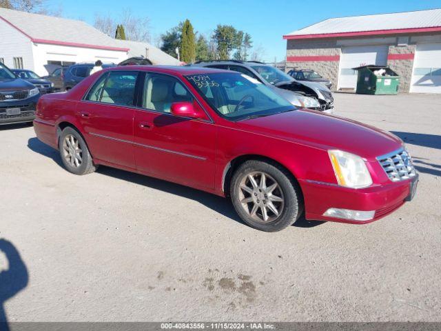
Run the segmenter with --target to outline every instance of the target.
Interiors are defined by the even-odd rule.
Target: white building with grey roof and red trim
[[[30,69],[43,76],[53,65],[98,59],[119,63],[139,56],[154,64],[180,64],[149,43],[116,40],[83,21],[0,8],[0,61],[9,68]]]

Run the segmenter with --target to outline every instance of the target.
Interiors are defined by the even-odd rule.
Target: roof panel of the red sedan
[[[116,66],[112,68],[106,68],[105,70],[139,70],[150,72],[162,72],[168,74],[181,74],[183,76],[187,74],[214,74],[216,72],[228,72],[229,70],[217,69],[217,68],[204,68],[193,66]]]

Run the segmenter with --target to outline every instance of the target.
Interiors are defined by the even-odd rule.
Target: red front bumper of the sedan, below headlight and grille
[[[413,181],[418,181],[418,177],[413,180],[373,185],[362,189],[345,188],[318,181],[300,180],[299,182],[305,197],[306,219],[365,224],[377,221],[400,208],[411,194],[411,183]],[[373,219],[355,221],[324,216],[323,214],[329,208],[360,211],[375,210],[375,214]]]

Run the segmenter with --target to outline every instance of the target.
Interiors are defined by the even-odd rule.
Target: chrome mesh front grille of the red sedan
[[[404,181],[416,175],[411,156],[404,148],[377,159],[391,181]]]

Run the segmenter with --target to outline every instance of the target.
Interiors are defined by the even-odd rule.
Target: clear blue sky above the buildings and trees
[[[252,35],[253,46],[264,50],[268,62],[286,56],[283,34],[332,17],[441,8],[441,0],[46,0],[48,9],[61,8],[63,17],[93,25],[96,14],[118,19],[130,9],[150,19],[151,43],[180,21],[189,19],[195,31],[209,35],[228,24]]]

